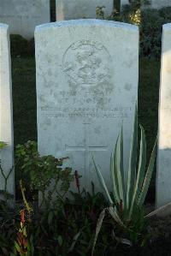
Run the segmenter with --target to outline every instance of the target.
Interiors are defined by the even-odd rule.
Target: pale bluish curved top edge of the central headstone
[[[78,26],[101,26],[101,27],[118,27],[125,30],[139,32],[139,27],[128,23],[119,21],[106,21],[97,19],[81,19],[70,21],[56,21],[51,23],[42,24],[36,27],[35,33],[56,27],[78,27]]]

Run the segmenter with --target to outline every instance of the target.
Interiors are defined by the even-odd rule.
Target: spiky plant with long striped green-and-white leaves
[[[131,140],[130,157],[127,170],[127,177],[125,177],[125,171],[123,168],[123,131],[119,134],[115,151],[111,155],[110,159],[110,173],[113,183],[112,196],[109,194],[109,190],[103,180],[103,176],[97,164],[94,161],[97,177],[101,183],[103,190],[105,191],[109,200],[109,207],[104,208],[101,212],[95,235],[94,246],[97,241],[97,235],[101,229],[103,218],[105,213],[109,212],[109,215],[118,223],[123,229],[127,230],[130,244],[132,241],[138,241],[139,235],[144,228],[144,213],[143,204],[146,193],[150,185],[150,178],[156,159],[156,143],[153,147],[150,163],[146,167],[146,141],[144,128],[140,125],[141,139],[139,146],[139,164],[138,161],[138,113],[137,106],[135,108],[133,135]],[[137,170],[138,166],[138,170]],[[94,247],[92,249],[92,253]]]

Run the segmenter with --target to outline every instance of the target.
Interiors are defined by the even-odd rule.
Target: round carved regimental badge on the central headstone
[[[97,86],[109,79],[110,56],[100,43],[81,40],[68,47],[62,69],[68,80],[77,85]]]

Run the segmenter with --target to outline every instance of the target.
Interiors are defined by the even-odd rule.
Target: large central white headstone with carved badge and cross
[[[99,183],[92,154],[110,184],[109,158],[124,126],[127,166],[138,94],[139,30],[114,21],[61,21],[35,32],[38,151]]]

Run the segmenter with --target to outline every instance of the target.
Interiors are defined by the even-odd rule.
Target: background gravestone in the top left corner
[[[0,22],[10,33],[31,39],[37,25],[50,22],[50,0],[0,0]]]

